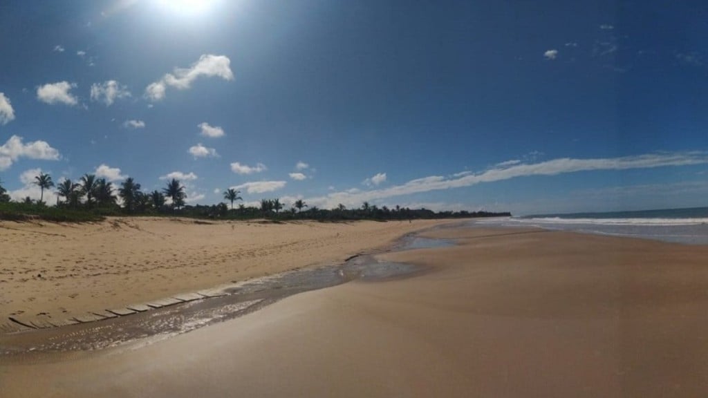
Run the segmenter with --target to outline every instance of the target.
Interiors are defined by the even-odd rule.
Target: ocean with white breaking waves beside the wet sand
[[[539,227],[683,244],[708,244],[708,207],[530,215],[479,220],[476,224]]]

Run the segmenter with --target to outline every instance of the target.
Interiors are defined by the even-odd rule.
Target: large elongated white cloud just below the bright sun
[[[145,89],[145,96],[150,101],[160,101],[165,98],[167,87],[178,90],[189,89],[192,82],[200,76],[220,77],[224,80],[233,80],[231,60],[224,55],[205,54],[189,68],[175,68],[173,73],[162,76]]]

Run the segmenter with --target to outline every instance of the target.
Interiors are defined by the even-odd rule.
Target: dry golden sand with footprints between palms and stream
[[[339,263],[440,221],[202,222],[110,218],[0,222],[0,333],[8,318],[53,324],[126,305]]]

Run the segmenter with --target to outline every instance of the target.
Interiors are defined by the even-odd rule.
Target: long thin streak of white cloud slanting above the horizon
[[[532,164],[515,163],[510,166],[494,166],[491,169],[476,174],[464,174],[453,178],[428,176],[411,180],[399,186],[375,189],[372,191],[333,192],[323,197],[309,198],[307,202],[323,208],[331,208],[338,203],[343,203],[346,206],[358,206],[364,201],[371,202],[373,200],[411,195],[413,193],[462,188],[474,186],[479,183],[504,181],[510,178],[526,176],[556,176],[559,174],[576,173],[578,171],[653,169],[656,167],[692,166],[699,164],[708,164],[707,152],[659,153],[599,159],[563,158]]]

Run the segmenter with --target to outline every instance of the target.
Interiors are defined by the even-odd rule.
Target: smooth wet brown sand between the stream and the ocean
[[[295,295],[141,348],[0,364],[16,397],[704,397],[708,247],[443,229],[413,278]]]

